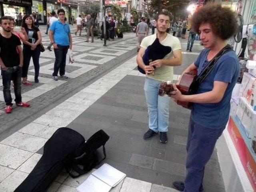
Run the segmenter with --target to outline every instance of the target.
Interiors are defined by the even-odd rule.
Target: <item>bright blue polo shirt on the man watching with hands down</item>
[[[58,45],[68,46],[70,44],[68,35],[70,34],[70,27],[67,23],[62,24],[60,20],[54,21],[50,26],[53,31],[54,42]]]

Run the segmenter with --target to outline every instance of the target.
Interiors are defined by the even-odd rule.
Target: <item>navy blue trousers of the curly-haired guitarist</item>
[[[184,192],[203,192],[204,166],[212,156],[217,139],[226,126],[210,129],[190,117],[187,141],[187,160]]]

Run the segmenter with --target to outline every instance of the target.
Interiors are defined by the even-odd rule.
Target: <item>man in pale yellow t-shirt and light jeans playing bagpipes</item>
[[[156,18],[157,32],[154,35],[147,36],[140,44],[140,50],[137,56],[137,64],[146,72],[144,91],[146,103],[148,106],[148,126],[149,130],[144,134],[144,139],[148,140],[160,132],[160,142],[168,141],[167,132],[169,124],[169,102],[170,98],[158,96],[158,88],[163,81],[173,80],[173,66],[179,66],[182,63],[181,44],[178,38],[166,32],[170,23],[170,17],[166,13],[158,14]],[[157,36],[156,36],[157,35]],[[159,39],[164,46],[171,48],[164,59],[154,60],[145,65],[142,56],[148,46]],[[159,50],[160,51],[160,50]],[[155,56],[159,52],[150,53]],[[152,73],[154,72],[154,74]]]

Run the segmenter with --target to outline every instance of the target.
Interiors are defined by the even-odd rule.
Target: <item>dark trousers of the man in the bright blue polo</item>
[[[58,76],[60,70],[60,76],[65,74],[66,67],[66,54],[68,53],[69,46],[58,45],[58,49],[54,49],[55,62],[54,62],[54,72],[52,76]]]

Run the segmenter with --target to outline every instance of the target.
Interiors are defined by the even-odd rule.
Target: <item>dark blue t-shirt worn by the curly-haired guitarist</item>
[[[204,70],[209,61],[207,55],[210,49],[204,49],[194,62],[198,74]],[[197,124],[207,128],[219,129],[228,122],[230,112],[230,99],[232,90],[239,74],[239,60],[234,51],[229,51],[215,64],[214,68],[200,84],[197,94],[209,92],[213,89],[214,81],[227,82],[228,86],[222,100],[218,103],[194,103],[191,112],[192,119]]]

